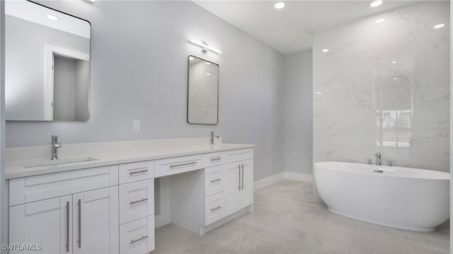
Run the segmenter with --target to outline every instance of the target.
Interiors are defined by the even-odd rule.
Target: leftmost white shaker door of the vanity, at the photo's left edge
[[[31,248],[28,252],[42,248],[40,253],[71,253],[71,206],[68,195],[10,207],[9,243],[28,244]]]

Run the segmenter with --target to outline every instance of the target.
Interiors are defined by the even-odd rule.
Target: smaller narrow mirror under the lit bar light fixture
[[[219,65],[194,56],[188,59],[187,122],[217,125]]]

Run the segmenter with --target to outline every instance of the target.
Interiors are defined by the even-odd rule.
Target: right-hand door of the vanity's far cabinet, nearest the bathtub
[[[241,161],[241,191],[239,209],[253,203],[253,160]]]

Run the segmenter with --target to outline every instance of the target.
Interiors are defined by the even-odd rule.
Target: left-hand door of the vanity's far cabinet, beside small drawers
[[[229,163],[223,165],[224,171],[224,216],[228,216],[239,208],[239,192],[241,191],[241,164]]]

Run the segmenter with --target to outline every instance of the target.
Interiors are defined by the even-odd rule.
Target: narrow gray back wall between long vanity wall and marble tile
[[[287,54],[280,91],[285,171],[311,175],[313,96],[311,50]]]

